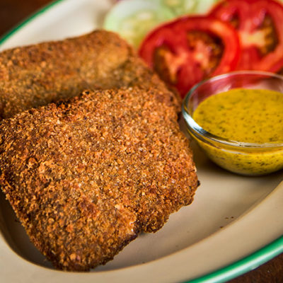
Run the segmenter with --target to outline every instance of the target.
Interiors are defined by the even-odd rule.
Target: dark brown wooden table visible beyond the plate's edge
[[[48,3],[50,0],[0,0],[0,36]],[[283,253],[229,283],[283,283]]]

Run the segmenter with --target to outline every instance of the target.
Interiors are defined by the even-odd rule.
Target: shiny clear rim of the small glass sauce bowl
[[[283,142],[278,142],[278,141],[270,141],[270,142],[265,142],[265,143],[250,143],[250,142],[244,142],[244,141],[234,141],[230,139],[226,139],[224,137],[219,137],[216,136],[215,134],[212,134],[210,132],[207,132],[205,129],[202,129],[200,125],[195,122],[195,120],[192,118],[190,115],[188,109],[187,109],[187,104],[189,103],[190,97],[192,94],[195,92],[197,88],[202,86],[204,83],[207,83],[208,81],[218,81],[219,79],[225,79],[226,77],[229,76],[234,76],[234,75],[262,75],[262,76],[268,76],[268,77],[273,77],[280,79],[283,83],[283,76],[279,74],[274,74],[270,73],[267,71],[231,71],[226,74],[221,74],[219,76],[213,76],[212,78],[209,79],[204,79],[203,81],[200,81],[200,83],[196,83],[195,86],[193,86],[190,91],[187,93],[185,96],[183,103],[182,103],[182,114],[185,120],[185,123],[190,131],[190,133],[193,136],[196,136],[198,139],[204,139],[206,142],[207,141],[214,141],[215,143],[223,144],[224,146],[229,146],[229,147],[234,147],[237,149],[274,149],[277,147],[283,147]],[[283,96],[283,93],[282,93]]]

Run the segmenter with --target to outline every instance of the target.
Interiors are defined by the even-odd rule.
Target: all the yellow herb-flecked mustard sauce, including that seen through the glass
[[[237,88],[202,101],[192,115],[207,132],[230,141],[283,143],[283,94]],[[245,175],[262,175],[283,168],[283,146],[235,149],[199,141],[220,166]]]

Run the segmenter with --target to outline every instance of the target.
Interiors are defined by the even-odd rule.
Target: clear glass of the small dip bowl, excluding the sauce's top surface
[[[282,142],[231,141],[205,131],[192,119],[202,100],[233,88],[268,89],[279,91],[283,96],[283,76],[262,71],[235,71],[198,83],[187,93],[182,105],[187,131],[207,156],[226,170],[241,175],[265,175],[282,169]]]

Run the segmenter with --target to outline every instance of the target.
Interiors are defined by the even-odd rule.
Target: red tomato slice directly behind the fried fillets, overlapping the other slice
[[[193,16],[153,30],[141,43],[139,55],[183,97],[202,79],[235,69],[239,50],[231,25]]]

